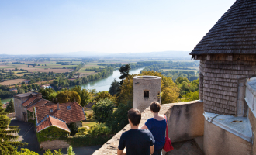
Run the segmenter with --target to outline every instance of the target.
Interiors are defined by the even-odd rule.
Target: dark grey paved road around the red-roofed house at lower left
[[[26,142],[28,145],[24,148],[28,148],[31,151],[43,155],[44,151],[40,150],[40,145],[36,138],[36,133],[33,130],[33,125],[29,122],[22,122],[18,120],[12,120],[10,126],[19,126],[19,140],[21,142]],[[76,155],[91,155],[95,150],[98,150],[101,146],[86,146],[86,147],[74,147],[73,151]],[[62,149],[61,151],[64,154],[67,154],[67,148]]]

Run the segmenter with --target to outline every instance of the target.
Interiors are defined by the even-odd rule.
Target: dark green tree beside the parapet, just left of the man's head
[[[115,112],[108,115],[106,126],[109,126],[112,133],[118,133],[121,129],[123,129],[124,126],[128,124],[127,114],[128,110],[131,108],[133,108],[132,102],[128,102],[126,104],[119,103],[119,106],[116,108]]]

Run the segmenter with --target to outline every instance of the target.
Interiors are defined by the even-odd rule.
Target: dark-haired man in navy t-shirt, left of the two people
[[[117,150],[118,155],[149,155],[154,153],[154,137],[149,130],[139,129],[141,114],[136,108],[128,111],[130,130],[122,134]],[[123,153],[126,148],[126,153]]]

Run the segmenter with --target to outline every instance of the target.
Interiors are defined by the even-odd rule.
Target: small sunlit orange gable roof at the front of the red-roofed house
[[[40,125],[36,126],[37,133],[42,131],[43,129],[47,129],[47,127],[55,126],[60,129],[64,129],[68,133],[71,133],[71,131],[68,129],[66,122],[56,119],[53,116],[47,116],[47,119],[45,119],[43,122],[40,123]]]

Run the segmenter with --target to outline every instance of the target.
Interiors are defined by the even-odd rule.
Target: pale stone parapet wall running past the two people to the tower
[[[161,105],[159,112],[161,115],[166,115],[168,118],[168,134],[172,142],[182,140],[191,140],[196,136],[203,135],[203,103],[202,102],[184,102],[184,103],[170,103]],[[142,112],[140,126],[143,126],[147,119],[153,115],[150,108],[146,108]],[[93,154],[116,154],[119,139],[122,133],[130,129],[130,125],[125,126],[119,133],[106,142],[99,150]]]

